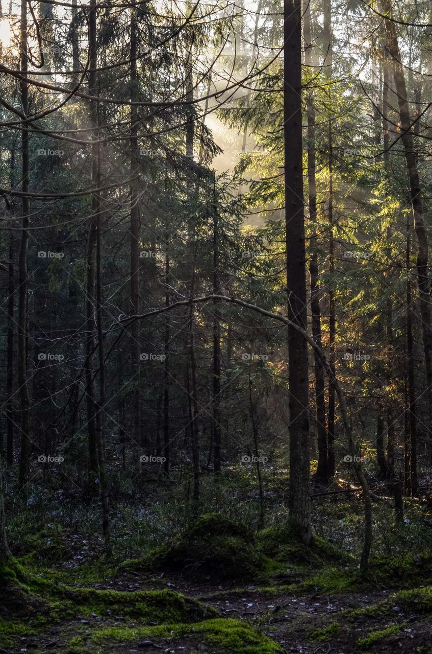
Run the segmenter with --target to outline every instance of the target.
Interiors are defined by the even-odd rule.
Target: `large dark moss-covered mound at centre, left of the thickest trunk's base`
[[[264,580],[277,568],[258,551],[252,532],[220,513],[200,515],[185,532],[123,568],[181,573],[195,581]]]

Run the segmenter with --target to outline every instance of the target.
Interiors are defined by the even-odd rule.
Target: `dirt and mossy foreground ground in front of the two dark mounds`
[[[318,583],[316,588],[308,586],[307,592],[301,592],[298,581],[226,588],[221,583],[190,583],[181,576],[144,580],[122,573],[106,583],[68,585],[54,603],[51,598],[23,606],[18,621],[17,615],[5,611],[3,627],[11,621],[16,633],[6,629],[2,641],[0,632],[0,652],[432,652],[432,585],[396,593],[388,589],[327,593]],[[187,600],[185,608],[183,595],[196,602]],[[202,610],[201,603],[214,613]]]

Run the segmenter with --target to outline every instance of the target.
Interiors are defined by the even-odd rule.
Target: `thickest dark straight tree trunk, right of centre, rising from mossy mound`
[[[306,255],[301,140],[301,0],[284,3],[285,230],[288,318],[307,328]],[[311,540],[309,375],[307,343],[288,326],[290,387],[289,516]]]

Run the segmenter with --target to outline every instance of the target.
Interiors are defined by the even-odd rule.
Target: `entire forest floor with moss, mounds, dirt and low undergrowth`
[[[178,505],[171,538],[162,527],[174,517],[155,514],[161,533],[143,547],[149,513],[119,506],[112,559],[93,508],[54,498],[51,511],[43,499],[40,508],[31,499],[25,529],[20,515],[10,528],[23,585],[14,598],[0,584],[0,654],[432,654],[431,524],[421,502],[407,503],[396,525],[391,498],[375,495],[375,549],[362,574],[355,496],[320,498],[321,536],[309,548],[286,522],[252,532],[221,513],[184,521]]]

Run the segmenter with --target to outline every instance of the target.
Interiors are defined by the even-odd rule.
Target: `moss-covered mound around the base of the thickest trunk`
[[[263,529],[256,537],[256,542],[266,557],[294,566],[320,568],[323,564],[352,562],[349,555],[320,536],[312,536],[309,547],[306,547],[298,536],[296,527],[288,522]]]

